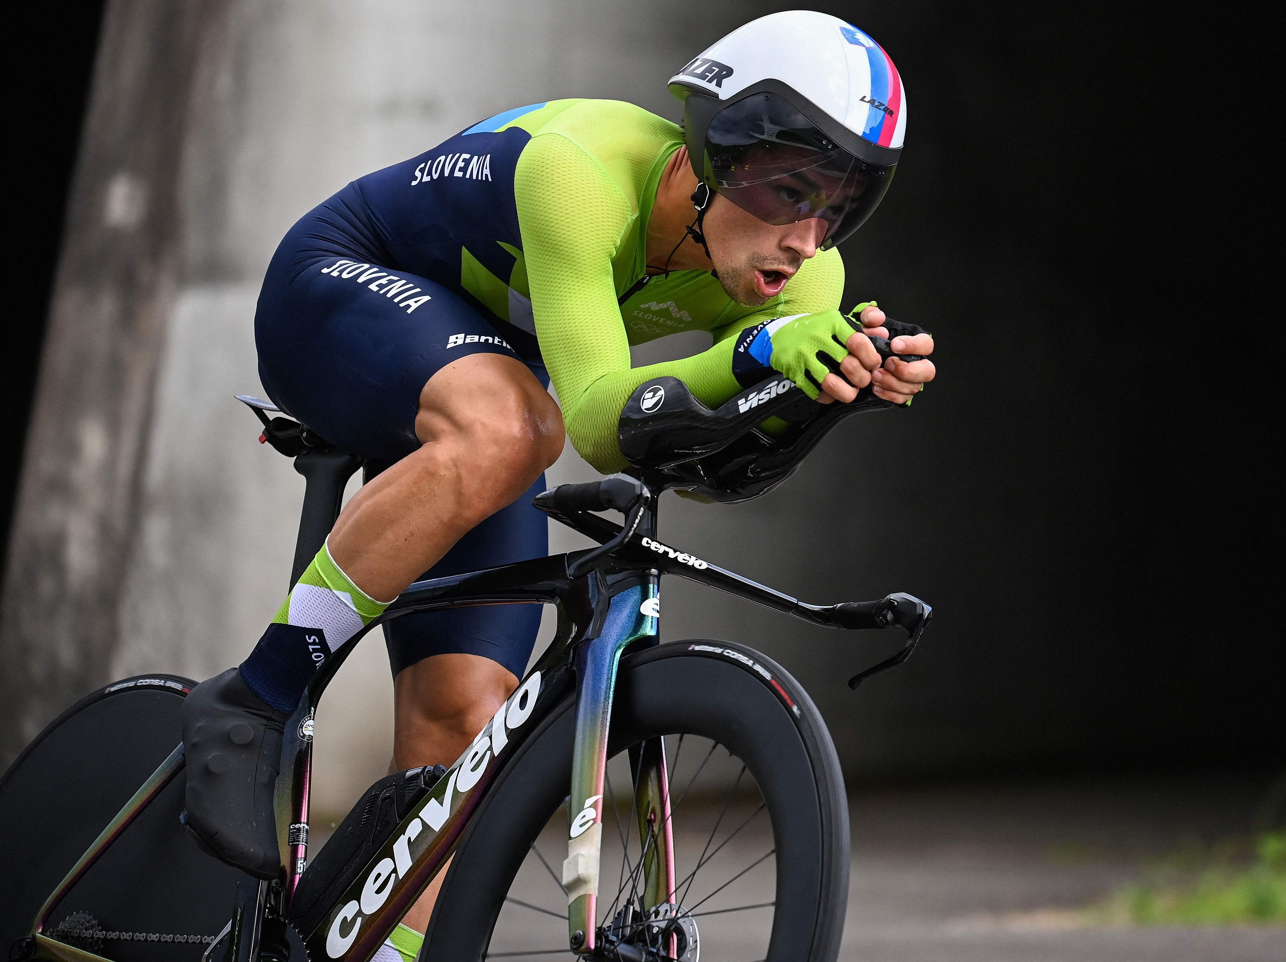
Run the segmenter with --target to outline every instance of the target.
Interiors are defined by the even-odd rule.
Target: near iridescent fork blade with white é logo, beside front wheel
[[[572,747],[567,860],[567,935],[574,952],[593,952],[598,902],[599,849],[603,841],[603,779],[607,731],[621,652],[657,631],[657,584],[648,579],[615,594],[603,630],[576,651],[576,741]]]

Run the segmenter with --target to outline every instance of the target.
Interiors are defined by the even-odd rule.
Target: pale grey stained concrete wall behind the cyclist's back
[[[665,81],[698,45],[666,28],[679,5],[198,6],[108,8],[6,580],[5,660],[22,652],[23,670],[5,758],[112,678],[235,664],[280,603],[302,478],[231,396],[261,394],[251,322],[287,228],[518,103],[611,96],[675,116]],[[552,476],[586,472],[568,449]],[[319,809],[381,772],[390,705],[372,639],[319,718],[323,772],[341,769],[322,776]]]

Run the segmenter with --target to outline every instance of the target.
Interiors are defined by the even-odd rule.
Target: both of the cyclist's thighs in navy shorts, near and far
[[[363,260],[296,251],[294,233],[273,259],[260,296],[260,378],[283,410],[342,449],[383,466],[404,458],[421,446],[415,414],[433,374],[469,354],[516,356],[486,319],[441,284],[401,271],[387,280],[377,274],[388,271]],[[340,264],[345,260],[351,262]],[[423,295],[430,300],[410,305]],[[548,385],[544,368],[527,364]],[[464,535],[426,575],[548,554],[548,521],[531,507],[541,490],[544,477]],[[431,655],[469,653],[521,676],[539,625],[540,606],[507,604],[409,615],[385,633],[395,675]]]

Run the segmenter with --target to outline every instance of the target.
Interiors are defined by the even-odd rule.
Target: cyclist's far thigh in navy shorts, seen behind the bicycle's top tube
[[[457,541],[424,577],[445,577],[548,554],[548,518],[531,505],[531,499],[544,489],[541,475],[518,500]],[[539,604],[486,604],[394,619],[385,625],[385,639],[394,675],[431,655],[481,655],[522,678],[539,629]]]

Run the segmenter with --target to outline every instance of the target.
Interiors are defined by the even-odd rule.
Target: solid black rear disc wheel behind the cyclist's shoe
[[[105,685],[50,723],[0,778],[0,952],[30,931],[48,895],[181,741],[180,709],[194,685],[176,675]],[[108,941],[107,958],[201,957],[206,944],[197,938],[229,918],[240,872],[184,835],[183,792],[180,772],[72,886],[46,934],[87,913],[102,931],[131,936]]]

